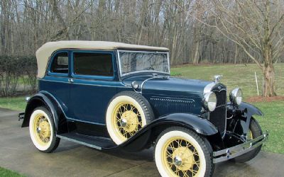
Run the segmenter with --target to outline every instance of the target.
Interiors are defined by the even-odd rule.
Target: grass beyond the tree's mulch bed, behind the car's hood
[[[185,65],[171,69],[175,75],[181,75],[190,79],[213,80],[214,75],[223,75],[221,81],[228,87],[228,91],[236,87],[240,87],[244,93],[244,98],[256,96],[256,79],[254,72],[258,78],[258,89],[262,93],[263,74],[256,64],[225,64],[225,65],[208,65],[208,66],[193,66]],[[275,86],[276,93],[284,96],[284,64],[275,66]]]

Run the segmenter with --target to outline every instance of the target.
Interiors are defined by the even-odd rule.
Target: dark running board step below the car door
[[[114,142],[112,142],[111,139],[105,137],[92,137],[92,136],[82,135],[77,132],[69,132],[56,136],[61,139],[66,139],[70,142],[76,142],[78,144],[82,144],[84,146],[92,147],[94,149],[99,149],[99,150],[108,150],[117,147],[117,145],[114,144]]]

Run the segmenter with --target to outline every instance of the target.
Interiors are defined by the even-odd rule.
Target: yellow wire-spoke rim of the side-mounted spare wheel
[[[138,108],[129,102],[116,105],[112,118],[114,129],[121,140],[129,139],[143,127]]]

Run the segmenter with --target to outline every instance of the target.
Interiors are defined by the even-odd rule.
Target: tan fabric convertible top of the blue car
[[[121,42],[87,41],[87,40],[62,40],[58,42],[46,42],[36,51],[38,62],[38,78],[45,76],[48,60],[56,50],[81,49],[81,50],[155,50],[168,51],[165,47],[151,47],[146,45],[131,45]]]

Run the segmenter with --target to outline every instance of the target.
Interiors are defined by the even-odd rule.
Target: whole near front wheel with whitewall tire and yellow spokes
[[[212,147],[183,127],[163,131],[155,144],[155,164],[161,176],[212,176]]]

